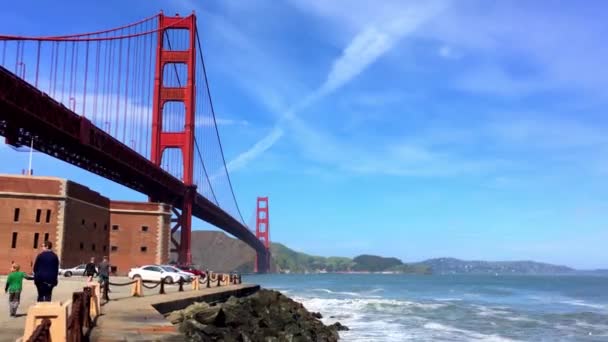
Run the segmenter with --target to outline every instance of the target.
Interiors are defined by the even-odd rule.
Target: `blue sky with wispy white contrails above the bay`
[[[249,220],[270,197],[272,240],[608,267],[608,4],[23,0],[3,5],[0,32],[159,9],[198,14],[237,198]],[[27,167],[6,146],[0,160]],[[34,169],[144,198],[41,154]]]

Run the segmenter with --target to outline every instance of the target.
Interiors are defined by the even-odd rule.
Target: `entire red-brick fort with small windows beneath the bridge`
[[[13,261],[31,272],[45,240],[62,268],[103,256],[116,274],[167,263],[170,224],[167,204],[110,201],[62,178],[0,174],[0,274]]]

